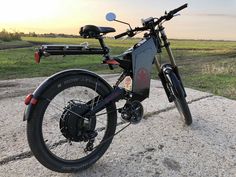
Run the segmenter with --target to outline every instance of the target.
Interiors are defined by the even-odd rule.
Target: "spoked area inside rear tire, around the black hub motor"
[[[44,113],[44,119],[42,121],[42,141],[45,144],[48,152],[55,158],[66,162],[74,162],[79,159],[88,158],[96,149],[92,151],[85,152],[86,146],[88,144],[84,141],[75,141],[68,136],[63,135],[60,129],[60,122],[63,118],[63,112],[68,111],[67,114],[72,114],[77,117],[80,121],[85,119],[83,115],[80,115],[78,111],[68,109],[69,102],[73,101],[76,104],[86,105],[90,101],[90,109],[97,104],[97,102],[92,101],[94,98],[102,99],[102,96],[88,87],[74,86],[72,88],[67,88],[56,95],[53,99],[48,99],[50,103]],[[79,99],[76,99],[79,98]],[[94,99],[95,100],[95,99]],[[63,105],[63,106],[62,106]],[[92,123],[94,130],[98,133],[95,137],[93,143],[94,146],[98,146],[104,139],[106,134],[107,125],[107,114],[105,110],[99,112],[99,116],[96,117],[96,122]],[[102,114],[104,113],[104,114]],[[69,128],[71,125],[67,126]],[[78,126],[78,129],[81,127]],[[78,131],[79,132],[79,131]]]

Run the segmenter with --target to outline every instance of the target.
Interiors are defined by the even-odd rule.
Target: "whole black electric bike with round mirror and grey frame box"
[[[45,167],[58,172],[74,172],[88,168],[106,152],[113,137],[143,117],[142,101],[150,91],[151,69],[156,66],[169,102],[174,102],[185,124],[192,123],[186,92],[168,42],[163,23],[171,20],[187,4],[160,18],[142,20],[142,27],[131,28],[123,36],[134,37],[145,31],[143,39],[119,56],[110,56],[104,35],[115,32],[111,27],[86,25],[80,29],[84,38],[95,38],[101,47],[81,45],[42,45],[35,52],[36,62],[51,55],[103,55],[110,69],[122,68],[117,82],[111,86],[101,76],[83,69],[69,69],[46,79],[25,99],[24,120],[30,149]],[[108,21],[117,21],[114,13]],[[129,25],[129,24],[128,24]],[[130,26],[130,25],[129,25]],[[161,64],[159,54],[165,48],[170,63]],[[129,88],[119,85],[127,80]],[[116,103],[124,100],[124,105]],[[116,132],[117,114],[125,126]]]

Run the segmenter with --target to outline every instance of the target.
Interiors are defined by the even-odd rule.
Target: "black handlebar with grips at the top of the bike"
[[[180,6],[180,7],[178,7],[178,8],[176,8],[176,9],[173,9],[173,10],[169,11],[164,16],[161,16],[156,22],[154,22],[153,25],[156,26],[156,25],[159,25],[163,20],[168,21],[168,20],[172,19],[177,12],[185,9],[186,7],[188,7],[187,3]],[[129,37],[133,37],[136,34],[135,32],[145,31],[145,30],[148,30],[148,29],[150,29],[150,28],[148,28],[148,27],[136,27],[135,29],[131,29],[131,30],[126,31],[124,33],[118,34],[114,38],[118,39],[118,38],[121,38],[121,37],[126,36],[126,35],[128,35]]]

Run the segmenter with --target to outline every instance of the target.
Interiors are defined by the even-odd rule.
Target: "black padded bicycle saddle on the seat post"
[[[80,35],[85,38],[98,37],[100,34],[104,35],[107,33],[115,32],[116,30],[111,27],[98,27],[94,25],[85,25],[80,28]]]

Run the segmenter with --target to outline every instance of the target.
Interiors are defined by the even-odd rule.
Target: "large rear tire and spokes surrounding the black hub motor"
[[[104,82],[90,75],[81,74],[66,76],[54,82],[38,101],[33,116],[27,123],[29,146],[37,160],[45,167],[57,172],[75,172],[94,164],[112,142],[117,123],[117,112],[114,103],[107,106],[96,116],[98,135],[93,151],[84,152],[87,142],[68,141],[60,131],[59,122],[68,101],[86,103],[100,96],[109,94]],[[96,103],[95,103],[96,104]]]

